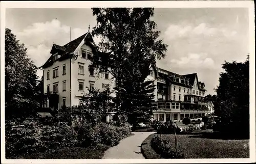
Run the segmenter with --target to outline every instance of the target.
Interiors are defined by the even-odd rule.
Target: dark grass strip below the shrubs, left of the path
[[[15,159],[101,159],[110,146],[73,147],[14,157]],[[14,159],[9,158],[9,159]]]

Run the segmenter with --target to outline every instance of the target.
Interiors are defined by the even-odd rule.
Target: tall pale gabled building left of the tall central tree
[[[90,32],[63,46],[53,44],[50,58],[41,68],[44,92],[59,95],[55,107],[79,105],[79,98],[88,92],[86,87],[104,89],[109,85],[113,89],[111,74],[105,73],[97,77],[93,70],[88,70],[95,52],[95,43]],[[49,101],[45,107],[49,107]]]

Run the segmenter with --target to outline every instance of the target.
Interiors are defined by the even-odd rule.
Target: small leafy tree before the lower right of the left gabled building
[[[92,124],[102,121],[102,117],[111,112],[113,102],[110,97],[110,88],[107,86],[104,91],[99,89],[89,89],[80,99],[80,116],[82,120],[86,120]]]

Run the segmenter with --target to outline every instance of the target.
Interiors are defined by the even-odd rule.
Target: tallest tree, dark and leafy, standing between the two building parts
[[[116,112],[126,115],[133,126],[147,120],[152,111],[151,82],[144,82],[156,58],[165,57],[167,45],[158,40],[160,31],[151,20],[152,8],[93,8],[97,25],[92,35],[101,37],[89,69],[109,72],[116,80]],[[136,80],[135,80],[136,79]],[[147,95],[148,94],[148,95]],[[120,119],[118,117],[118,119]]]

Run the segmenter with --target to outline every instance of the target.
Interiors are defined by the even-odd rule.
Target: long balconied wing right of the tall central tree
[[[146,80],[153,80],[157,86],[155,120],[199,119],[214,112],[214,105],[205,97],[205,84],[198,80],[197,73],[179,75],[153,65]]]

